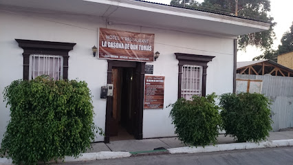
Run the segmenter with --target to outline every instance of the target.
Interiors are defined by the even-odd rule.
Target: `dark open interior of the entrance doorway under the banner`
[[[110,141],[134,139],[133,68],[113,67],[113,109]]]

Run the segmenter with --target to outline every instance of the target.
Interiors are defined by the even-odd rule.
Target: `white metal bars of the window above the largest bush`
[[[60,80],[63,76],[63,56],[30,55],[30,80],[43,74]]]

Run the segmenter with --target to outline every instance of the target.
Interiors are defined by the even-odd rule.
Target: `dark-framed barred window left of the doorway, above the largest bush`
[[[23,48],[23,80],[47,74],[55,80],[68,78],[68,52],[76,43],[15,39]]]

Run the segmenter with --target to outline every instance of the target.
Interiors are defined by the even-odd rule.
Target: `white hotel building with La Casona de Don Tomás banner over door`
[[[94,122],[105,131],[96,141],[105,142],[175,136],[167,106],[180,97],[232,92],[237,36],[270,28],[134,0],[10,0],[0,6],[0,91],[44,73],[85,80]],[[111,85],[113,94],[103,92]],[[8,108],[0,102],[0,140]]]

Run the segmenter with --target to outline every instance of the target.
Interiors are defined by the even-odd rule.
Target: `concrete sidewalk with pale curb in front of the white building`
[[[271,148],[293,146],[293,131],[271,132],[268,141],[260,143],[236,143],[232,137],[219,135],[217,144],[203,148],[202,146],[184,146],[176,137],[155,138],[145,140],[113,141],[109,144],[94,143],[92,148],[79,157],[65,157],[64,162],[82,162],[96,159],[115,159],[140,154],[174,154],[174,153],[207,153],[232,151],[253,148]],[[12,164],[12,159],[0,158],[0,165]]]

